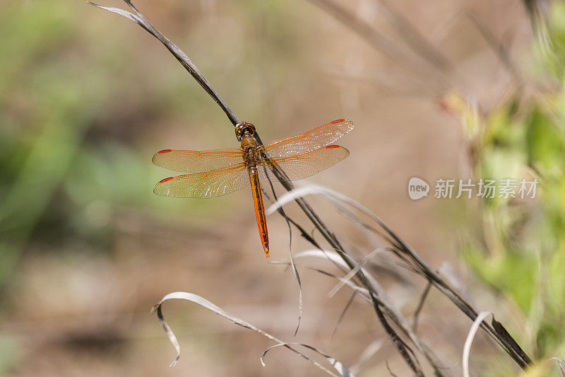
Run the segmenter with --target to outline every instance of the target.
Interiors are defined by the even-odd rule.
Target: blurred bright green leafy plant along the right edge
[[[553,51],[539,60],[554,74],[549,83],[522,88],[467,132],[477,180],[539,181],[535,199],[480,199],[482,226],[464,250],[480,279],[521,310],[533,335],[525,328],[513,335],[536,359],[565,355],[565,76],[554,69],[565,47],[563,19],[556,2],[552,42],[540,40]]]

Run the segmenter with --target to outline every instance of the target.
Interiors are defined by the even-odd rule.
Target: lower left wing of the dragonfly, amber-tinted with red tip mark
[[[207,173],[193,173],[165,178],[153,192],[165,197],[220,197],[249,186],[244,163]]]

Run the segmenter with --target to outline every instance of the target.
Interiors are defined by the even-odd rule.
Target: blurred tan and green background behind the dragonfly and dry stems
[[[378,0],[336,2],[404,45]],[[450,262],[472,287],[456,253],[458,229],[472,214],[432,195],[412,201],[406,186],[412,176],[430,184],[470,176],[460,122],[441,107],[445,95],[461,91],[488,110],[515,85],[465,12],[525,66],[528,17],[518,1],[388,3],[451,62],[448,74],[387,57],[309,1],[135,2],[263,141],[335,119],[355,122],[339,142],[350,156],[309,181],[361,202],[433,267]],[[103,5],[125,8],[117,0]],[[261,366],[273,342],[184,302],[164,307],[182,349],[169,369],[174,349],[149,311],[172,291],[203,296],[346,366],[382,340],[359,376],[386,375],[385,360],[408,375],[364,302],[354,301],[332,337],[350,293],[328,298],[334,282],[305,268],[304,314],[293,337],[297,284],[264,257],[249,190],[206,200],[153,195],[153,185],[173,175],[152,165],[156,151],[237,147],[220,108],[160,42],[83,1],[4,1],[0,35],[2,375],[322,375],[283,348]],[[340,239],[367,248],[354,225],[311,200]],[[287,211],[311,231],[294,205]],[[284,219],[269,216],[268,228],[270,260],[287,261]],[[293,252],[310,248],[293,229]],[[386,277],[383,284],[410,317],[424,283]],[[480,292],[477,305],[496,308]],[[441,328],[430,320],[436,311],[448,318]],[[421,320],[422,337],[460,374],[470,321],[436,293]],[[494,350],[481,340],[475,346]]]

